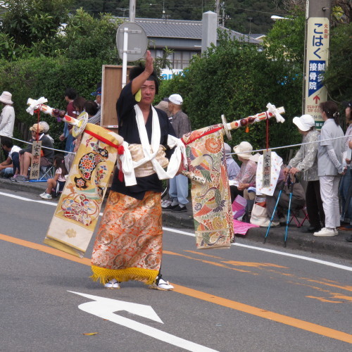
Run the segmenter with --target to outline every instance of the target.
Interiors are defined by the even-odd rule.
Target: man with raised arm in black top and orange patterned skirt
[[[123,178],[121,165],[115,172],[94,244],[92,278],[108,289],[137,280],[152,289],[169,291],[172,285],[161,277],[163,187],[158,174],[168,165],[172,154],[168,140],[175,131],[166,113],[152,106],[158,78],[149,51],[145,67],[132,68],[129,77],[116,104],[119,134],[128,144],[132,161],[140,165],[134,167],[133,185],[127,182],[127,175]],[[181,163],[176,167],[180,172]]]

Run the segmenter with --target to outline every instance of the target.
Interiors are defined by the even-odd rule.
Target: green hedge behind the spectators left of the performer
[[[67,58],[32,58],[28,60],[2,63],[0,66],[0,90],[13,94],[15,108],[14,137],[27,139],[28,128],[37,122],[36,115],[25,110],[27,99],[38,99],[44,96],[52,108],[65,110],[67,103],[64,92],[67,87],[87,100],[94,100],[92,92],[96,90],[96,82],[101,81],[103,61],[96,58],[72,60]],[[62,149],[64,144],[58,140],[63,131],[63,123],[41,113],[40,120],[50,125],[50,134],[55,139],[54,146]]]

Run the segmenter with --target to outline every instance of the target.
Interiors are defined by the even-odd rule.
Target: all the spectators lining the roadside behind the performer
[[[92,92],[92,96],[95,97],[95,100],[87,101],[79,96],[75,89],[65,89],[64,99],[67,102],[67,115],[77,118],[85,112],[88,115],[89,123],[99,125],[101,121],[100,83],[97,84],[96,91]],[[11,93],[2,92],[0,103],[3,105],[0,115],[0,176],[11,177],[11,180],[15,182],[28,182],[28,170],[32,162],[32,144],[28,144],[25,148],[14,144],[15,111]],[[182,97],[179,94],[172,94],[157,106],[168,113],[171,121],[175,120],[172,121],[174,124],[177,122],[177,116],[181,116],[179,120],[182,121],[182,124],[177,122],[180,125],[179,137],[191,130],[189,118],[182,112],[181,106]],[[344,102],[346,134],[340,127],[339,106],[333,101],[326,101],[320,104],[320,108],[324,121],[320,132],[315,130],[315,120],[310,115],[302,115],[293,119],[298,132],[302,135],[302,145],[294,158],[291,158],[279,172],[274,193],[266,196],[267,218],[261,224],[262,227],[269,224],[275,227],[286,221],[284,210],[288,207],[288,197],[291,193],[291,207],[306,208],[308,213],[310,226],[303,232],[312,233],[314,236],[331,237],[336,236],[339,230],[352,230],[352,170],[350,167],[352,101]],[[77,151],[80,139],[76,141],[72,135],[72,127],[67,122],[64,123],[63,133],[59,139],[66,141],[66,165],[70,165],[67,161],[73,158],[73,153]],[[175,127],[177,126],[175,125]],[[68,170],[66,168],[63,170],[60,165],[57,165],[61,161],[61,155],[58,156],[54,153],[54,139],[49,134],[49,124],[45,121],[36,123],[30,127],[30,132],[32,134],[30,143],[42,142],[40,167],[54,166],[56,168],[54,178],[50,182],[48,181],[46,191],[41,194],[43,198],[49,199],[50,191],[56,188],[56,184],[60,184],[62,187],[64,176],[67,175]],[[231,201],[234,202],[237,196],[252,200],[253,194],[256,194],[256,174],[260,154],[253,154],[253,147],[246,141],[234,146],[233,151],[241,163],[241,167],[234,161],[231,147],[225,144],[225,161],[230,180]],[[185,204],[188,193],[185,190],[188,191],[188,181],[184,177],[185,180],[182,181],[186,183],[177,183],[177,177],[170,181],[170,201],[163,207],[165,210],[187,210]],[[291,189],[288,187],[289,182],[294,183]],[[280,192],[280,190],[282,191]],[[249,191],[252,196],[249,196]],[[277,200],[279,194],[280,199]],[[260,196],[260,193],[258,192],[257,195]],[[352,241],[352,236],[347,240]]]

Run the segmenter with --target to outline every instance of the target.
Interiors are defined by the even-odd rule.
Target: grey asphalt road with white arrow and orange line
[[[175,291],[107,290],[92,243],[82,260],[42,244],[53,204],[0,190],[0,351],[351,351],[351,261],[246,239],[196,251],[166,229]]]

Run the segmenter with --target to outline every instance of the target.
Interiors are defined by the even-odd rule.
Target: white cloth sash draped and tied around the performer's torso
[[[122,172],[125,176],[125,184],[126,186],[134,186],[137,184],[136,176],[134,175],[134,168],[137,168],[144,163],[151,161],[153,165],[153,169],[155,170],[156,174],[159,177],[159,180],[167,180],[170,178],[175,177],[177,171],[180,168],[180,163],[182,161],[183,155],[183,165],[184,168],[187,167],[187,157],[186,157],[186,148],[182,143],[181,139],[168,135],[168,146],[170,149],[175,147],[174,153],[170,158],[170,162],[168,164],[168,169],[165,171],[163,167],[158,163],[156,160],[156,154],[158,153],[158,149],[160,146],[160,138],[161,138],[161,131],[160,131],[160,124],[158,113],[156,113],[155,108],[151,106],[152,111],[152,121],[151,121],[151,150],[150,153],[150,144],[148,140],[148,134],[146,133],[146,125],[144,122],[144,116],[142,113],[141,108],[136,104],[134,106],[134,110],[136,111],[136,121],[137,127],[139,132],[139,137],[141,139],[142,149],[144,153],[144,158],[139,161],[132,161],[132,156],[130,150],[128,149],[128,143],[123,142],[122,145],[124,146],[124,153],[120,155],[121,163],[122,163]]]

